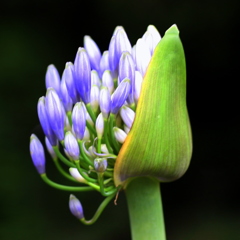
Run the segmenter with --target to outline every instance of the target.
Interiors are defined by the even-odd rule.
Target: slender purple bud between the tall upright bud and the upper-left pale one
[[[73,103],[76,103],[80,100],[80,97],[75,86],[73,71],[74,71],[74,65],[71,62],[67,62],[65,65],[63,75],[65,78],[68,94],[71,97]]]

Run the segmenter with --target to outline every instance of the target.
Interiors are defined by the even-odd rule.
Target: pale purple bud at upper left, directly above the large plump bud
[[[50,87],[54,88],[59,98],[62,98],[61,89],[60,89],[60,75],[58,73],[58,70],[53,64],[49,65],[47,68],[45,81],[46,81],[46,89]]]

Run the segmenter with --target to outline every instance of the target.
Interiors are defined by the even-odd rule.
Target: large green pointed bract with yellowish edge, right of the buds
[[[191,155],[185,57],[173,25],[156,47],[144,77],[135,120],[115,164],[115,185],[139,176],[173,181],[186,172]]]

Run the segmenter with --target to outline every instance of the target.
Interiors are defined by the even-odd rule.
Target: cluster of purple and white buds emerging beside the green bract
[[[69,162],[70,177],[104,196],[116,193],[115,159],[131,131],[143,78],[160,39],[150,25],[132,46],[118,26],[103,54],[85,36],[84,47],[73,63],[66,63],[61,77],[54,65],[47,68],[46,96],[37,106],[47,149],[54,159]],[[35,135],[30,149],[39,174],[45,174],[44,150]],[[73,196],[70,209],[82,217],[76,214],[81,207]]]

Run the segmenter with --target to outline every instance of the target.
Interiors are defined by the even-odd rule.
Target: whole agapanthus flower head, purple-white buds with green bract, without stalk
[[[187,170],[191,129],[176,25],[162,39],[150,25],[135,45],[118,26],[103,54],[85,36],[84,47],[78,48],[74,63],[66,63],[61,79],[54,65],[48,67],[46,87],[38,116],[47,148],[66,178],[88,185],[83,191],[113,196],[132,178],[172,181]],[[37,170],[45,172],[43,148],[35,136],[30,149]],[[73,215],[84,218],[73,195],[69,206]]]

